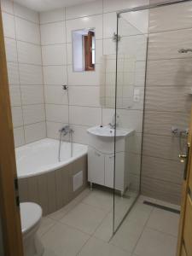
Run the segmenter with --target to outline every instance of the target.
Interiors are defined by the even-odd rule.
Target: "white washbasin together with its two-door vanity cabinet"
[[[109,126],[95,126],[89,133],[88,180],[92,183],[113,188],[124,194],[129,186],[129,148],[134,130],[111,129]],[[114,138],[114,135],[116,137]],[[115,141],[115,181],[114,177]]]

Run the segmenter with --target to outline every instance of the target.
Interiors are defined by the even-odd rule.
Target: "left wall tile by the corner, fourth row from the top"
[[[21,85],[43,84],[43,74],[41,67],[28,64],[20,64],[19,68]]]

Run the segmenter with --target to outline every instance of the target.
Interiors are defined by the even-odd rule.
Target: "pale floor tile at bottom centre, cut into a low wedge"
[[[96,239],[94,237],[84,245],[79,256],[131,256],[127,252],[108,242]]]

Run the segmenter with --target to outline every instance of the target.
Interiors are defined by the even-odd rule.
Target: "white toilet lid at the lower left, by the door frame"
[[[42,218],[42,208],[35,203],[20,203],[20,220],[22,233],[31,230]]]

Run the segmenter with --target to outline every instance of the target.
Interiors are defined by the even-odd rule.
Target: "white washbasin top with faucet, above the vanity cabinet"
[[[95,126],[91,127],[87,130],[90,134],[98,136],[98,137],[114,137],[114,129],[112,129],[110,126]],[[133,130],[131,129],[116,129],[116,137],[125,137],[129,134],[131,134]]]

